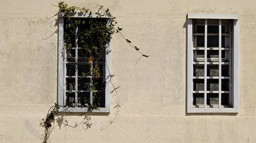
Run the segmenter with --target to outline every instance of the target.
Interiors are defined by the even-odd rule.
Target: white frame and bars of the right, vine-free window
[[[230,75],[230,81],[232,88],[231,91],[231,107],[222,107],[221,106],[221,93],[225,93],[225,91],[221,92],[221,83],[219,82],[219,105],[218,108],[209,108],[207,107],[207,93],[214,93],[215,91],[207,91],[206,82],[204,82],[204,91],[199,91],[200,93],[204,93],[204,107],[196,108],[193,107],[193,64],[194,62],[194,53],[193,50],[204,50],[204,55],[207,57],[207,50],[211,50],[211,48],[207,48],[207,26],[205,26],[205,46],[204,48],[193,49],[193,19],[230,19],[233,20],[232,24],[232,62],[229,63],[232,65],[232,74]],[[205,22],[207,25],[207,20]],[[221,48],[221,22],[219,22],[219,47]],[[187,113],[237,113],[238,112],[238,57],[239,57],[239,20],[237,14],[188,14],[187,16]],[[222,49],[223,50],[223,49]],[[225,54],[226,56],[226,54]],[[229,55],[227,55],[228,57]],[[204,59],[204,58],[203,58]],[[222,58],[223,59],[223,58]],[[215,64],[219,64],[221,69],[221,50],[219,50],[219,62],[211,62]],[[207,76],[207,60],[204,60],[204,77]],[[231,69],[231,67],[230,67]],[[202,79],[207,80],[207,78],[202,77]],[[217,79],[222,79],[221,70],[219,70],[219,77]],[[230,87],[231,87],[230,86]]]

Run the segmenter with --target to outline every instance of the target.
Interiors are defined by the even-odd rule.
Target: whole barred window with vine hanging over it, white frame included
[[[91,21],[108,26],[110,17],[74,13],[71,20],[75,26],[70,28],[63,13],[58,18],[58,104],[63,106],[58,111],[87,112],[90,104],[96,104],[99,110],[92,112],[110,112],[110,42],[103,42],[103,49],[95,39],[83,40],[83,32],[96,27]],[[91,67],[96,66],[99,76],[92,74]]]

